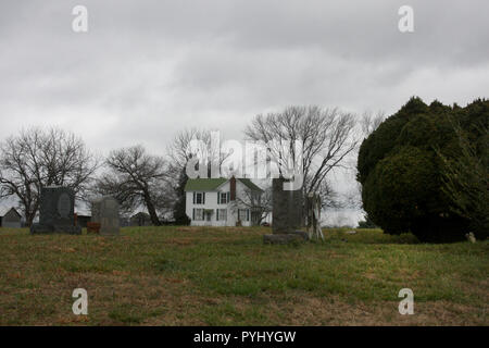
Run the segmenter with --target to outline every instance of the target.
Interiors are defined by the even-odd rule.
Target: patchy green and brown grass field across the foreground
[[[123,228],[116,238],[0,229],[0,325],[488,325],[489,244],[325,231]],[[72,291],[88,291],[74,315]],[[401,315],[401,288],[414,315]]]

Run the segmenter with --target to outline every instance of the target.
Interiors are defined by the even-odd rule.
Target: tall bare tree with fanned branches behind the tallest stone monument
[[[355,150],[354,128],[351,113],[315,105],[289,107],[280,113],[256,115],[244,134],[251,140],[268,145],[269,161],[287,159],[289,167],[301,167],[305,195],[319,190],[327,175],[341,167],[347,156]],[[296,141],[302,153],[294,152]]]

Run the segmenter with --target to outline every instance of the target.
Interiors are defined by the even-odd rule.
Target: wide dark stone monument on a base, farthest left
[[[43,187],[39,202],[39,223],[30,226],[30,234],[82,234],[75,225],[75,194],[61,186]]]

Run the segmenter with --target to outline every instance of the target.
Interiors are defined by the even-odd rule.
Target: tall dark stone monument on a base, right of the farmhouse
[[[265,244],[287,244],[308,240],[302,226],[302,189],[284,190],[283,177],[272,181],[272,235],[264,235]]]

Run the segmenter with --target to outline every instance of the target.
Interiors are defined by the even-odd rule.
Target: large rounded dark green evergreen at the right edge
[[[460,108],[438,101],[427,105],[419,98],[412,98],[361,146],[358,179],[368,216],[386,233],[412,232],[427,241],[462,239],[474,226],[479,227],[473,232],[485,238],[487,231],[481,224],[474,224],[478,217],[471,212],[474,207],[481,207],[477,210],[479,216],[480,210],[487,211],[487,187],[472,210],[462,214],[455,198],[467,196],[473,188],[452,185],[449,191],[447,175],[464,156],[455,125],[476,148],[473,156],[479,158],[487,153],[482,151],[487,134],[479,129],[487,129],[488,120],[487,100]],[[479,171],[487,174],[487,160],[480,163]],[[455,176],[452,173],[455,182],[463,179]],[[484,183],[478,186],[481,188]]]

